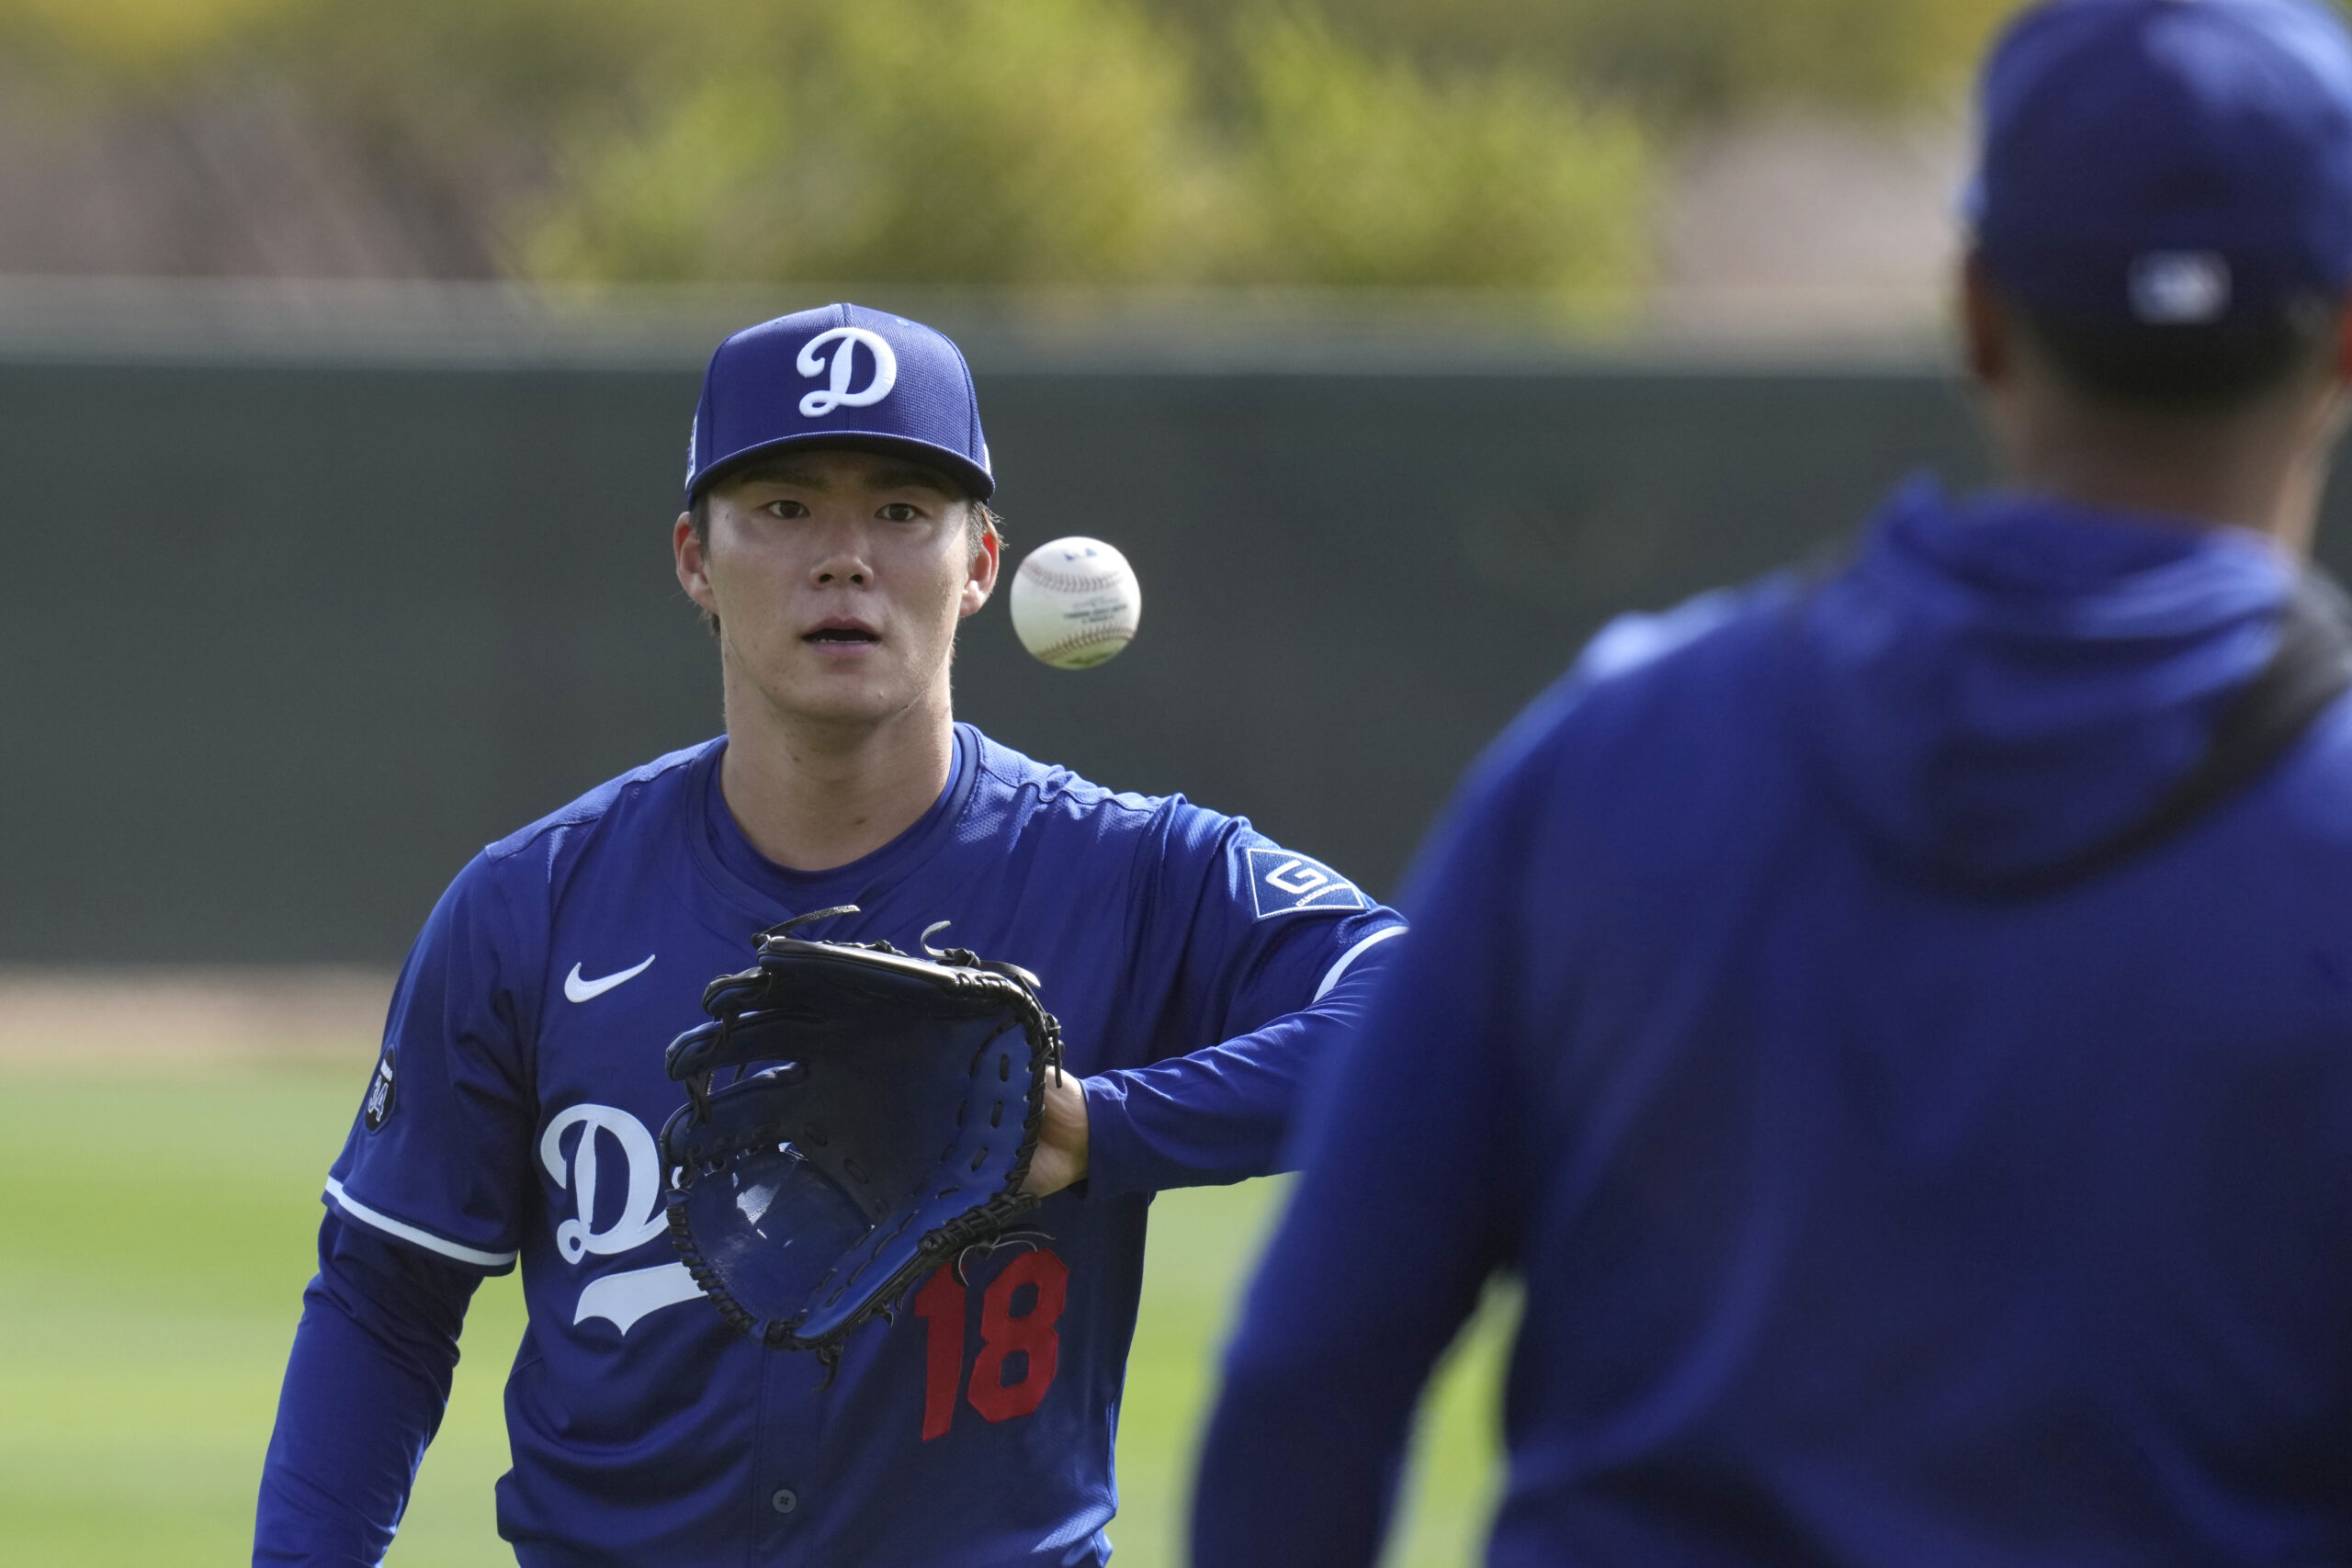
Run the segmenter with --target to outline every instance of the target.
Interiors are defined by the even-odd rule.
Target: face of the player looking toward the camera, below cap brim
[[[971,548],[969,501],[941,475],[870,451],[793,451],[710,494],[708,541],[677,520],[677,581],[717,616],[729,703],[880,724],[946,705],[955,625],[997,578]]]

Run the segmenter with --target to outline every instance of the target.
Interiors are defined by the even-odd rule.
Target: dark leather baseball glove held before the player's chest
[[[710,983],[713,1023],[670,1041],[687,1105],[661,1131],[694,1284],[769,1349],[814,1349],[828,1378],[851,1328],[1037,1206],[1021,1180],[1061,1072],[1028,971],[788,936],[854,912],[790,919],[762,933],[757,966]]]

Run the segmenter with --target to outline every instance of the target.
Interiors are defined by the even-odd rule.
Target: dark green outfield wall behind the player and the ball
[[[957,703],[1390,891],[1611,611],[1978,473],[1931,376],[993,374],[1016,555],[1110,538],[1138,642],[1002,602]],[[0,961],[395,959],[482,842],[717,729],[670,581],[694,374],[0,364]]]

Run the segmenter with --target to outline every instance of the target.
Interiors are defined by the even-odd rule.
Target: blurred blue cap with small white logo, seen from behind
[[[1992,280],[2074,320],[2265,320],[2352,289],[2352,38],[2310,0],[2053,0],[1980,82]]]

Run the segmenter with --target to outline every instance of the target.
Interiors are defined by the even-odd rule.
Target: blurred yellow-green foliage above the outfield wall
[[[1682,139],[1952,115],[2013,0],[0,0],[56,127],[332,150],[414,270],[1642,287]],[[273,127],[273,129],[270,129]],[[263,132],[247,132],[263,134]]]

